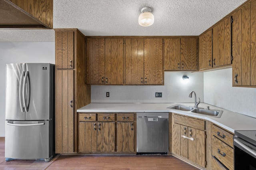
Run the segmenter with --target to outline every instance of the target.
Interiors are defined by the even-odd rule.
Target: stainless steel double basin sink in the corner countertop
[[[201,115],[207,115],[212,117],[218,117],[220,118],[223,111],[221,110],[214,110],[214,109],[203,109],[203,108],[196,108],[196,107],[190,107],[190,106],[184,106],[184,105],[174,105],[167,107],[168,109],[176,109],[180,111],[187,111],[192,113],[197,113]]]

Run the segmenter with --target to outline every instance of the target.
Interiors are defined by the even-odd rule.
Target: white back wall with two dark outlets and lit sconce
[[[184,84],[183,75],[188,75],[189,82]],[[189,98],[191,91],[204,101],[204,74],[201,72],[164,72],[164,86],[91,86],[92,103],[193,103],[194,95]],[[110,92],[110,97],[106,97]],[[156,98],[155,92],[162,92],[162,98]]]

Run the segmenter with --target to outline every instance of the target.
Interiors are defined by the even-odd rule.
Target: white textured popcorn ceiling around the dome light
[[[198,36],[246,0],[54,0],[54,28],[86,36]],[[152,8],[152,26],[138,24]],[[54,42],[54,30],[0,30],[2,42]]]

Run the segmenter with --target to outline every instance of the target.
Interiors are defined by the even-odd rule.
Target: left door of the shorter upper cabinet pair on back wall
[[[180,70],[180,38],[164,39],[164,70]]]

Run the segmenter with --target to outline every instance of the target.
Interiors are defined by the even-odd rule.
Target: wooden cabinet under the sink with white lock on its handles
[[[172,153],[205,167],[204,121],[176,114],[172,114],[172,120]]]

